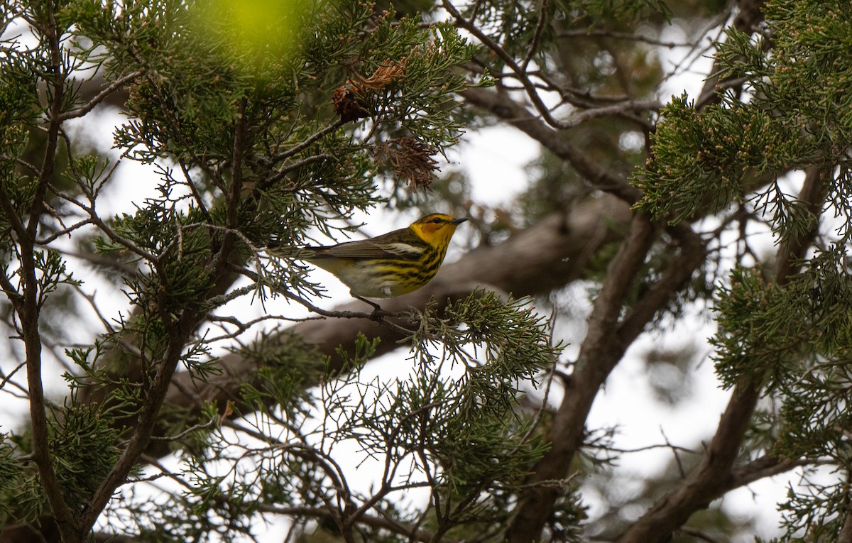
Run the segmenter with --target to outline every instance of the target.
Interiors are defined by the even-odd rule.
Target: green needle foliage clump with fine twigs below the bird
[[[376,347],[363,336],[348,371],[322,376],[308,392],[296,352],[280,363],[267,359],[262,389],[245,396],[254,414],[222,428],[189,460],[187,499],[236,525],[247,525],[262,505],[302,512],[296,522],[327,516],[333,531],[357,531],[358,539],[402,541],[369,520],[423,489],[432,529],[453,538],[498,530],[526,466],[544,453],[532,417],[516,408],[521,386],[558,352],[548,334],[523,302],[476,292],[446,316],[423,315],[404,378],[363,376]],[[261,441],[240,444],[241,432]],[[354,448],[360,464],[339,460],[342,448]],[[368,469],[369,492],[358,484]],[[327,509],[329,500],[343,504],[340,516]]]

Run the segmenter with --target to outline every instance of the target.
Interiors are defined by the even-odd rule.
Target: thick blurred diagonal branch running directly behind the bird
[[[412,306],[423,307],[435,297],[442,304],[447,299],[466,296],[477,286],[498,289],[516,296],[546,294],[556,287],[584,277],[590,258],[603,244],[619,238],[618,231],[627,225],[630,210],[617,198],[603,196],[579,203],[566,217],[558,214],[541,220],[525,231],[515,233],[497,246],[483,246],[465,254],[460,260],[443,266],[435,280],[424,289],[403,298]],[[390,311],[403,309],[393,300],[383,302]],[[337,307],[341,311],[366,310],[360,301]],[[400,335],[368,319],[330,319],[298,323],[285,333],[296,334],[308,345],[341,361],[335,356],[337,346],[353,346],[357,334],[379,338],[378,354],[399,348]],[[224,409],[227,401],[238,402],[237,409],[250,409],[239,403],[239,390],[256,373],[253,361],[239,354],[222,357],[222,375],[199,383],[187,374],[176,374],[167,402],[187,409],[193,416],[200,403],[215,401]],[[338,369],[339,366],[332,369]],[[262,385],[257,382],[256,386]],[[180,409],[178,409],[180,410]],[[245,413],[245,411],[244,411]],[[166,432],[168,420],[161,420],[159,432]],[[169,449],[164,443],[153,443],[148,454],[161,456]]]

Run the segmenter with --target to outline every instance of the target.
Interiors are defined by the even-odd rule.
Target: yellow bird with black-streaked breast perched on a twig
[[[395,298],[423,288],[440,269],[458,225],[467,218],[433,213],[381,236],[307,247],[302,260],[330,271],[354,298]]]

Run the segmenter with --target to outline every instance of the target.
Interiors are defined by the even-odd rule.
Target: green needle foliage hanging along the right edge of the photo
[[[744,81],[748,100],[722,89],[716,106],[699,110],[681,97],[665,107],[648,169],[635,175],[644,192],[636,207],[676,224],[707,206],[747,203],[769,217],[782,249],[809,237],[817,214],[834,215],[819,249],[792,256],[791,276],[733,271],[717,289],[712,343],[725,384],[763,387],[772,405],[752,439],[776,458],[820,459],[849,477],[852,62],[838,52],[852,45],[852,8],[778,0],[768,3],[766,17],[771,49],[738,31],[718,46],[719,76]],[[820,169],[815,204],[787,192],[781,180],[808,168]],[[791,540],[803,531],[803,540],[832,540],[848,518],[848,483],[825,483],[823,475],[809,468],[780,504]]]

